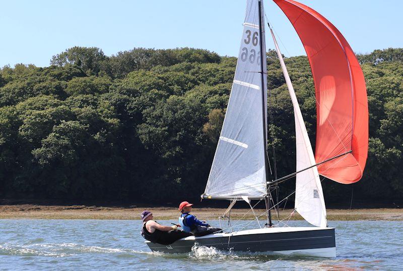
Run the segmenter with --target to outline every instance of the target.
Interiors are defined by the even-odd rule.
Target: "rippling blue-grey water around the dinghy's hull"
[[[175,221],[159,221],[171,222]],[[211,224],[218,226],[218,221]],[[151,252],[140,235],[141,225],[140,220],[0,220],[0,270],[403,269],[403,222],[329,221],[336,228],[336,258],[267,256],[209,247],[183,254]]]

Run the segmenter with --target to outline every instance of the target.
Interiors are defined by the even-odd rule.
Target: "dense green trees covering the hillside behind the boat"
[[[403,195],[403,49],[359,55],[368,88],[369,155],[355,198]],[[314,87],[306,57],[286,58],[314,143]],[[236,58],[202,49],[135,48],[107,57],[73,47],[51,66],[0,70],[0,196],[180,201],[203,193]],[[270,159],[295,171],[293,110],[279,62],[267,52]],[[280,189],[293,190],[293,181]],[[324,181],[327,201],[351,186]]]

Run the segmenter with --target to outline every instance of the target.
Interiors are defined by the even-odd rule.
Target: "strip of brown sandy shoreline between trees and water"
[[[174,207],[150,207],[156,220],[176,219],[179,211]],[[86,205],[36,205],[14,204],[0,205],[0,219],[99,219],[99,220],[137,220],[144,207],[104,207]],[[251,219],[249,209],[233,209],[232,219]],[[222,215],[225,208],[194,208],[192,213],[204,220],[215,220]],[[263,213],[257,209],[256,213]],[[280,219],[287,218],[292,210],[280,212]],[[277,219],[277,214],[273,214]],[[291,220],[300,220],[301,216],[294,212]],[[376,209],[328,209],[328,220],[370,220],[370,221],[403,221],[403,208],[376,208]]]

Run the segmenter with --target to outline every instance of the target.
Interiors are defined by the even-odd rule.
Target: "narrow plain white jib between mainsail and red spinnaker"
[[[297,97],[293,85],[291,84],[290,76],[283,57],[277,44],[276,37],[272,32],[273,40],[276,46],[277,55],[280,60],[281,68],[286,79],[288,91],[294,106],[295,118],[295,141],[297,152],[297,172],[307,169],[316,164],[313,156],[311,142],[309,141],[305,123],[302,118],[301,110],[298,104]],[[310,224],[317,227],[326,227],[326,207],[323,199],[322,185],[319,179],[319,173],[316,166],[302,171],[296,177],[295,189],[295,209],[301,216]]]

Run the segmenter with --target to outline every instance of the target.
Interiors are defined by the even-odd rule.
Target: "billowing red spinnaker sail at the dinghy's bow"
[[[316,95],[319,174],[343,184],[362,177],[368,153],[368,100],[364,75],[346,39],[329,21],[293,0],[273,0],[297,31],[311,65]]]

